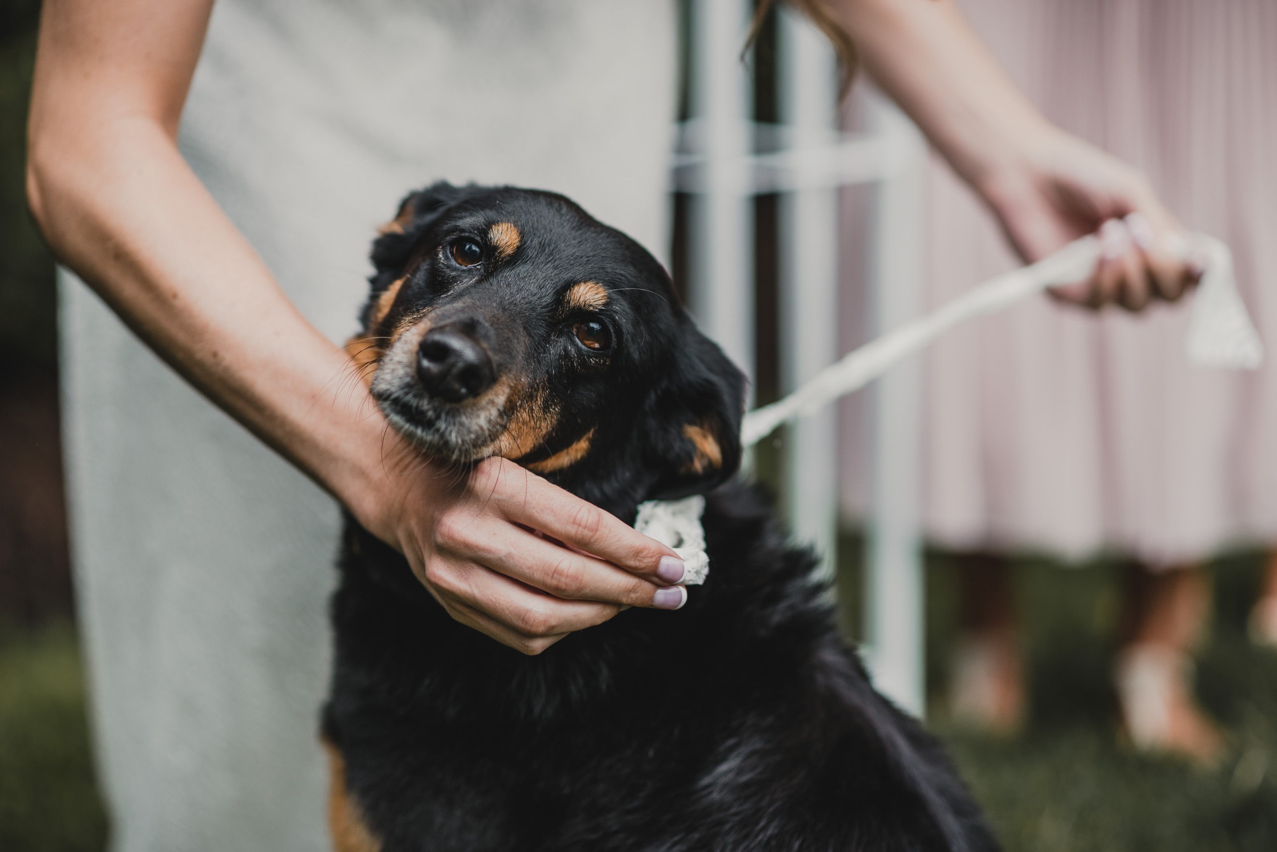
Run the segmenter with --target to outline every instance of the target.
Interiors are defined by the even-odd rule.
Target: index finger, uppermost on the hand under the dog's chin
[[[475,468],[472,477],[476,490],[492,494],[494,508],[507,520],[539,529],[659,584],[683,578],[683,562],[673,550],[513,462],[487,459]]]

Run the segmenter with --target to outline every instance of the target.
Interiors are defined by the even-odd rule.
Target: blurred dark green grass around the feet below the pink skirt
[[[939,562],[939,564],[937,564]],[[1222,726],[1227,753],[1211,770],[1135,754],[1116,736],[1110,686],[1119,565],[1082,570],[1019,566],[1031,721],[1015,738],[964,733],[944,719],[946,636],[942,560],[932,564],[933,727],[1008,849],[1171,852],[1277,849],[1277,653],[1257,648],[1245,620],[1259,556],[1213,566],[1214,619],[1197,666],[1202,705]],[[949,645],[951,647],[951,645]]]

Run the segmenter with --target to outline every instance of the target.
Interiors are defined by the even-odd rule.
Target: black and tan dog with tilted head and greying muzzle
[[[435,184],[373,260],[395,429],[627,522],[706,494],[711,573],[681,611],[529,657],[347,520],[323,716],[342,852],[996,848],[940,745],[870,686],[812,557],[723,485],[744,384],[651,255],[559,195]]]

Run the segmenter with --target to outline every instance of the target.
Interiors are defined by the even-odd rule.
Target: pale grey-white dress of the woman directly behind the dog
[[[435,179],[566,193],[665,255],[668,0],[220,0],[181,148],[290,298],[355,330]],[[323,849],[337,506],[63,275],[79,612],[117,852]]]

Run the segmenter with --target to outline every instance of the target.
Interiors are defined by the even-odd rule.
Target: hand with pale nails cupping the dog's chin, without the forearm
[[[538,654],[622,608],[674,608],[654,602],[674,597],[658,575],[670,548],[513,462],[444,464],[393,432],[382,458],[379,486],[347,505],[461,624]]]

